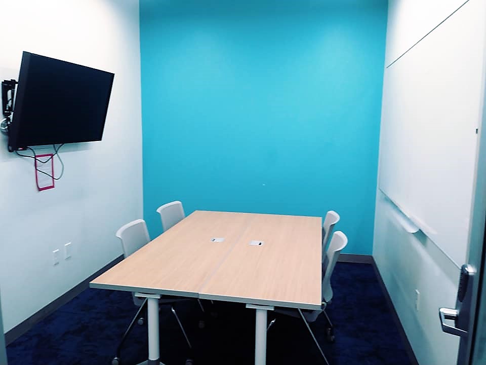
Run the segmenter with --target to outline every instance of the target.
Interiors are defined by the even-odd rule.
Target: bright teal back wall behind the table
[[[335,4],[336,3],[336,4]],[[341,215],[371,254],[385,0],[141,0],[144,218]]]

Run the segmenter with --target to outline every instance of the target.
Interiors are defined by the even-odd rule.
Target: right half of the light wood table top
[[[200,289],[199,297],[319,309],[321,218],[253,215],[226,260]],[[263,244],[250,245],[251,241]]]

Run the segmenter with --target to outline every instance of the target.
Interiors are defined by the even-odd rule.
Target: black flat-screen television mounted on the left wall
[[[101,140],[114,74],[23,52],[9,150]]]

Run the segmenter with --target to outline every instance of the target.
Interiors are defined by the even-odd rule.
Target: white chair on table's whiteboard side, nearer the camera
[[[322,355],[323,359],[326,361],[327,365],[329,365],[329,361],[326,358],[324,352],[322,351],[319,343],[317,342],[314,333],[310,329],[309,323],[314,322],[321,313],[324,313],[326,319],[330,324],[330,327],[327,329],[328,339],[334,341],[333,325],[325,309],[328,303],[333,298],[333,289],[331,287],[331,276],[333,274],[334,267],[336,266],[336,262],[338,261],[339,254],[341,253],[343,248],[346,247],[347,243],[348,243],[348,238],[343,232],[341,231],[335,232],[333,234],[333,238],[331,239],[331,243],[329,244],[329,248],[326,251],[326,255],[322,254],[323,256],[325,256],[325,258],[323,260],[323,267],[322,267],[322,302],[321,302],[320,310],[305,310],[305,309],[301,310],[300,308],[293,309],[293,308],[279,308],[279,307],[275,308],[276,313],[290,315],[292,317],[297,317],[297,318],[300,317],[304,320],[305,325],[307,326],[307,330],[309,331],[310,335],[314,339],[314,342],[317,345],[317,348],[319,349],[320,354]],[[273,319],[270,322],[267,330],[274,322],[275,319]]]

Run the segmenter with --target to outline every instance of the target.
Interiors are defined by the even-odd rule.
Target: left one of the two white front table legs
[[[148,360],[138,365],[164,365],[160,362],[159,350],[158,300],[160,296],[143,293],[136,293],[135,296],[147,298]]]

